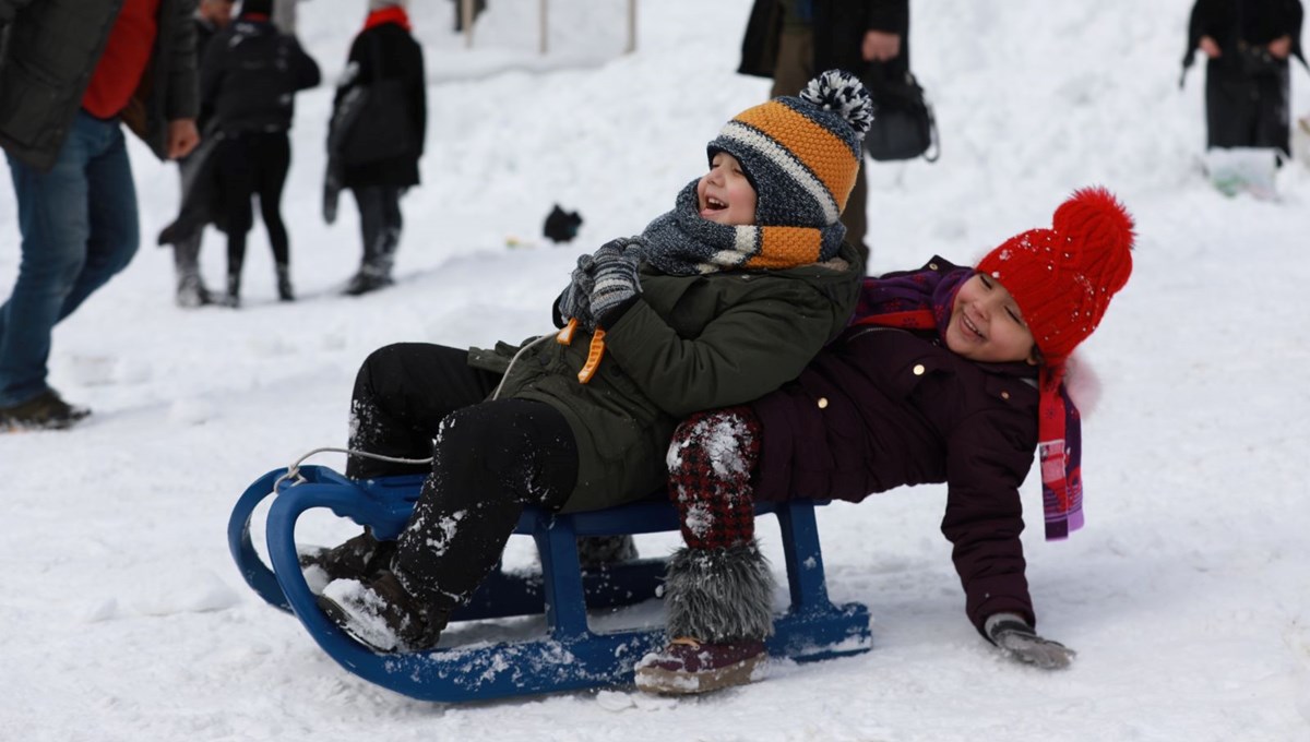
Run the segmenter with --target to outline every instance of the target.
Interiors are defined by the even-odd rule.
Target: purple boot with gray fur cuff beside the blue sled
[[[772,603],[773,574],[753,540],[677,550],[664,580],[672,640],[637,663],[637,687],[684,695],[755,680],[773,633]]]

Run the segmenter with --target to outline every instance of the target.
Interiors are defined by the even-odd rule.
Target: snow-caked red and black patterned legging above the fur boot
[[[697,412],[677,427],[668,489],[686,546],[727,548],[755,538],[751,475],[758,458],[760,421],[748,406]]]

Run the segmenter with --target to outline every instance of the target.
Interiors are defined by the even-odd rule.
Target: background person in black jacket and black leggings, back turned
[[[223,141],[215,153],[228,232],[228,291],[237,306],[245,238],[254,224],[250,198],[269,232],[278,271],[278,297],[291,289],[291,246],[282,224],[282,187],[291,166],[292,94],[318,84],[318,64],[293,37],[270,21],[272,0],[245,0],[241,16],[217,33],[200,65],[200,115],[212,115]]]

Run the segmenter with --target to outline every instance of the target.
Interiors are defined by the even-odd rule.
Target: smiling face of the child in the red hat
[[[972,361],[1038,362],[1032,331],[1001,281],[975,274],[955,293],[946,347]]]

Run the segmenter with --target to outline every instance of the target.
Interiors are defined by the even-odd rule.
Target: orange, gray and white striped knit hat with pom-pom
[[[749,107],[707,149],[741,164],[756,192],[758,226],[838,224],[855,185],[872,101],[858,77],[831,69],[785,96]],[[837,234],[840,242],[844,230]]]

